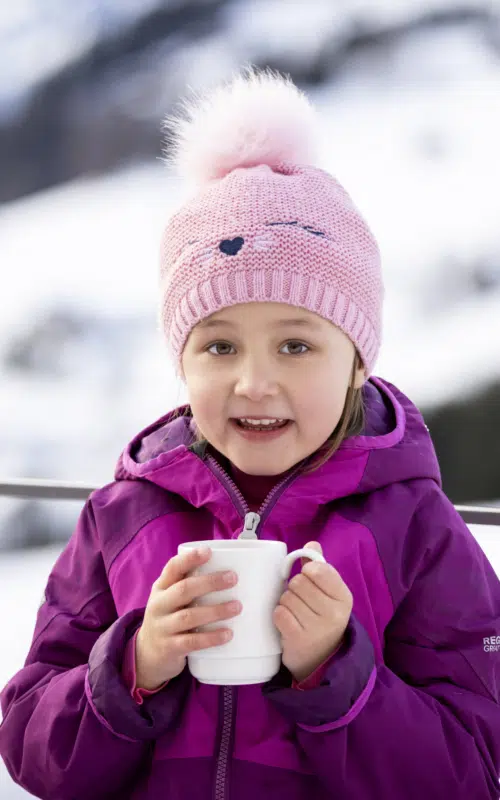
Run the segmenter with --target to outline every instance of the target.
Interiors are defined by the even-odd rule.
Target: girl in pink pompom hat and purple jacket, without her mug
[[[0,752],[40,798],[499,797],[500,582],[420,413],[372,376],[379,251],[311,166],[314,124],[257,72],[173,122],[199,186],[166,228],[161,307],[190,402],[89,497],[2,694]],[[243,526],[327,563],[275,609],[270,682],[200,684],[187,654],[241,607],[191,604],[236,577],[190,576],[210,551],[177,548]]]

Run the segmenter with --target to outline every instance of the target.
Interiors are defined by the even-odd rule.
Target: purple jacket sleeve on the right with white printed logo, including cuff
[[[384,662],[355,615],[320,687],[264,688],[331,796],[500,797],[500,581],[436,487],[407,532]]]

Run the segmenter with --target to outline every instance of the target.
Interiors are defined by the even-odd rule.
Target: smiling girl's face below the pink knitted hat
[[[284,303],[243,303],[190,333],[182,356],[201,434],[238,469],[279,475],[314,453],[342,416],[355,348],[336,326]],[[364,383],[356,371],[354,386]],[[292,420],[281,436],[246,439],[241,417]]]

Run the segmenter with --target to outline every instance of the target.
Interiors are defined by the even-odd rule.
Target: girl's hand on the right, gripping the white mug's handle
[[[306,547],[322,553],[319,542]],[[337,649],[353,605],[351,591],[334,567],[305,559],[302,564],[274,611],[283,664],[299,683]]]

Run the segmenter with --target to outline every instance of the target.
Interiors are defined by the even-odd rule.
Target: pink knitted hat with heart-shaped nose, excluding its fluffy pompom
[[[166,226],[160,280],[178,375],[192,328],[252,301],[315,312],[349,336],[367,376],[373,369],[384,293],[378,245],[347,192],[321,169],[260,164],[202,186]]]

